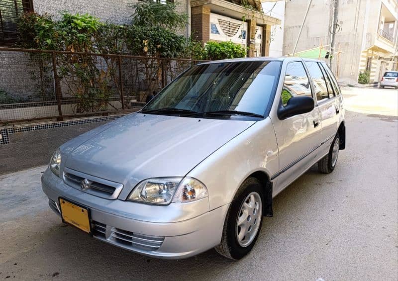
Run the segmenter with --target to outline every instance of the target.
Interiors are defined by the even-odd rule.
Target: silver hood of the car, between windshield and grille
[[[255,121],[133,113],[61,147],[65,167],[134,187],[155,177],[184,177]]]

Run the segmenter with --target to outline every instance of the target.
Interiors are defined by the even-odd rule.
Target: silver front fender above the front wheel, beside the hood
[[[237,189],[251,174],[262,171],[270,177],[278,170],[278,145],[268,117],[228,141],[187,176],[206,185],[209,209],[212,210],[230,203]]]

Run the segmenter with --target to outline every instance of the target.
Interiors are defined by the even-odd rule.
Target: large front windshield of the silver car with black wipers
[[[280,68],[279,61],[197,65],[163,89],[142,112],[264,115],[274,96]]]

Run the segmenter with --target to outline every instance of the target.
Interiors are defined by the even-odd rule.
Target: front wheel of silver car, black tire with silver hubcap
[[[250,205],[253,208],[250,209]],[[263,223],[263,206],[264,187],[256,178],[248,178],[239,187],[229,206],[221,242],[215,247],[220,255],[231,260],[240,260],[251,251]]]

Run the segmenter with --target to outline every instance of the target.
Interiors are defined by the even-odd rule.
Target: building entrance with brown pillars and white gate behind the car
[[[241,4],[238,4],[238,3]],[[268,56],[271,27],[281,21],[261,11],[261,2],[246,1],[260,10],[246,8],[243,1],[191,0],[191,32],[203,42],[229,41],[248,48],[248,56]]]

